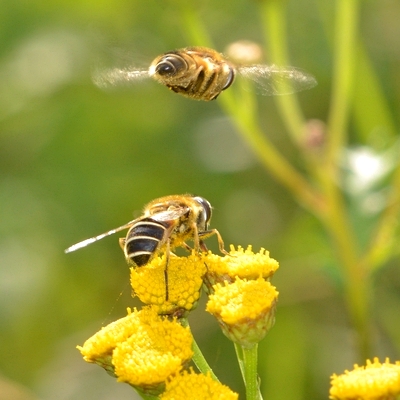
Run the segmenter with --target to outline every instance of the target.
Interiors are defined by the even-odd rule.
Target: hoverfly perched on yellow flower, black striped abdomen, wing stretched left
[[[189,194],[165,196],[151,201],[144,207],[143,215],[118,228],[74,244],[66,253],[86,247],[116,232],[128,229],[125,238],[120,239],[128,264],[136,267],[147,265],[160,253],[166,255],[165,282],[168,300],[168,261],[170,252],[176,247],[191,250],[186,243],[194,242],[194,250],[207,251],[203,239],[217,235],[220,251],[226,254],[224,242],[216,229],[209,229],[211,204],[200,196]]]

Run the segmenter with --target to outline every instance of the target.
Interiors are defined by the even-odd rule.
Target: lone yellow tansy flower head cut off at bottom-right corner
[[[353,371],[331,377],[329,394],[333,400],[394,400],[400,396],[400,362],[381,364],[375,357],[365,367],[356,364]]]

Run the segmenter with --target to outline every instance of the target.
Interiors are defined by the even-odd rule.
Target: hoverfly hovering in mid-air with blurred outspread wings
[[[232,85],[236,75],[253,80],[266,96],[310,89],[315,78],[295,67],[276,65],[235,65],[222,54],[206,47],[185,47],[158,56],[148,69],[114,68],[97,71],[99,87],[151,77],[172,91],[195,100],[214,100]]]

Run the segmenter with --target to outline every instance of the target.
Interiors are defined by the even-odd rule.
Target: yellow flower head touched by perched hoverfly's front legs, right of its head
[[[253,253],[252,247],[247,249],[238,246],[230,246],[229,256],[218,256],[208,252],[203,255],[203,261],[207,265],[205,283],[212,290],[215,283],[233,282],[236,277],[242,279],[270,278],[279,268],[278,261],[270,258],[269,252],[261,249]]]

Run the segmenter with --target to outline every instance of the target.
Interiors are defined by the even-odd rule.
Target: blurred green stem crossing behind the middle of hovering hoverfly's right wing
[[[273,63],[290,65],[286,40],[286,1],[268,0],[260,3],[265,37],[269,43],[269,55]],[[295,95],[275,96],[274,100],[282,121],[292,140],[302,144],[305,119]]]

